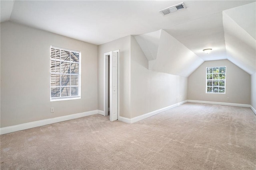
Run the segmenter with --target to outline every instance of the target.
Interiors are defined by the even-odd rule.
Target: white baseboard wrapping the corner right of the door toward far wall
[[[163,112],[163,111],[166,111],[166,110],[168,110],[168,109],[171,109],[171,108],[173,108],[173,107],[180,106],[180,105],[182,105],[182,104],[184,104],[184,103],[186,103],[186,102],[188,102],[188,101],[187,101],[187,100],[184,100],[183,102],[180,102],[180,103],[177,103],[177,104],[173,104],[173,105],[171,105],[171,106],[167,106],[167,107],[164,107],[164,108],[162,108],[162,109],[155,110],[155,111],[151,111],[151,112],[149,112],[149,113],[146,113],[146,114],[143,114],[143,115],[140,115],[140,116],[137,116],[137,117],[133,117],[133,118],[131,118],[131,119],[126,118],[126,117],[119,116],[119,117],[118,117],[118,120],[119,120],[119,121],[123,121],[123,122],[125,122],[125,123],[135,123],[135,122],[137,122],[137,121],[146,119],[146,118],[148,118],[148,117],[151,117],[151,116],[153,116],[153,115],[156,115],[156,114],[158,114],[158,113],[161,113],[161,112]]]

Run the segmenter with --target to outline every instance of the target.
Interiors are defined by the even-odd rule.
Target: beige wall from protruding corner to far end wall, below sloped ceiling
[[[187,78],[148,70],[148,60],[131,37],[131,118],[187,99]]]

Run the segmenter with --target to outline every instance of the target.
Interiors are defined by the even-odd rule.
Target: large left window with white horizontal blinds
[[[51,46],[51,101],[80,98],[81,52]]]

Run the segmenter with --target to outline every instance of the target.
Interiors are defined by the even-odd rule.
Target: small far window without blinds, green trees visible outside
[[[226,66],[206,67],[206,93],[226,92]]]

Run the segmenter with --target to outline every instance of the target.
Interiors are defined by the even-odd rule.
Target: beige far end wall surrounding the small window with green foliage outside
[[[206,94],[206,67],[214,66],[226,66],[226,94]],[[188,100],[250,104],[250,79],[250,74],[228,60],[205,61],[188,77]]]

